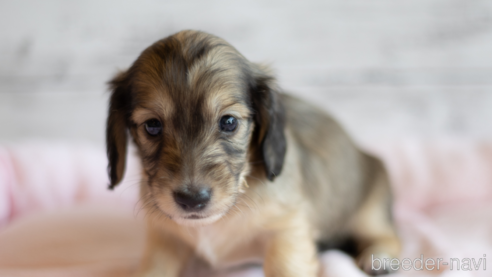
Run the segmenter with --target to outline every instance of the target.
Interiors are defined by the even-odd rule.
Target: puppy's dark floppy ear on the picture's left
[[[106,152],[108,155],[109,188],[113,189],[123,178],[126,164],[127,123],[130,114],[131,92],[128,74],[119,73],[109,81],[112,90],[106,124]]]

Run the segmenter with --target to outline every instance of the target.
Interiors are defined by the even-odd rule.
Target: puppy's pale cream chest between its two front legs
[[[240,222],[225,225],[196,228],[194,236],[189,238],[195,255],[214,268],[261,262],[264,250],[262,236]]]

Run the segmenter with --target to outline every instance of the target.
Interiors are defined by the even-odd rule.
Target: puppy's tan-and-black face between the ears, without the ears
[[[148,74],[158,67],[147,63],[136,69],[130,130],[150,201],[178,223],[210,222],[234,205],[248,173],[253,111],[240,69],[217,61],[224,49],[187,66],[172,47],[156,63],[162,74]]]

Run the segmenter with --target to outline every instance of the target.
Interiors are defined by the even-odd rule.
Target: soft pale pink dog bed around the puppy
[[[399,260],[411,259],[416,267],[393,276],[492,276],[492,143],[404,141],[366,149],[388,166],[404,244]],[[106,189],[105,169],[103,149],[87,145],[0,147],[0,276],[132,275],[145,234],[138,163],[130,157],[115,191]],[[419,270],[415,259],[421,255],[424,261],[442,259],[440,270]],[[325,252],[321,259],[323,276],[365,276],[341,252]],[[211,272],[197,264],[187,275],[263,273]]]

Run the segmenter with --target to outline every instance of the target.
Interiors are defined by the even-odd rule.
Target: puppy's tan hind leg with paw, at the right
[[[350,232],[357,242],[357,263],[370,275],[393,271],[389,262],[400,253],[400,240],[391,218],[389,182],[382,164],[376,162],[376,175],[371,190],[351,224]]]

